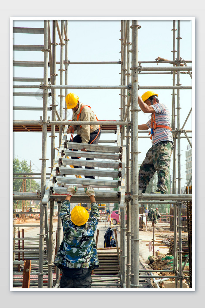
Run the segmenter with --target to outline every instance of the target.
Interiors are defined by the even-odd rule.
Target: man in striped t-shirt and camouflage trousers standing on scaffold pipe
[[[158,94],[153,91],[138,96],[138,104],[144,113],[150,113],[151,119],[146,124],[138,125],[138,129],[151,128],[152,147],[146,153],[139,170],[139,191],[145,193],[154,173],[157,171],[157,190],[152,193],[168,193],[170,157],[173,152],[170,111],[164,103],[158,100]]]

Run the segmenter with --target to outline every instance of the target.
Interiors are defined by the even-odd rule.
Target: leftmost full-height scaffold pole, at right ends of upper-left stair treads
[[[48,99],[48,20],[44,21],[43,56],[43,123],[42,123],[42,163],[41,163],[41,204],[39,234],[39,275],[38,287],[43,288],[43,250],[45,236],[45,206],[42,200],[46,191],[46,148],[47,148],[47,99]]]

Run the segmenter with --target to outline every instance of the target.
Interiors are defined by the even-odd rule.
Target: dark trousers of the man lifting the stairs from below
[[[91,272],[89,268],[70,269],[63,268],[60,279],[60,288],[91,288]]]

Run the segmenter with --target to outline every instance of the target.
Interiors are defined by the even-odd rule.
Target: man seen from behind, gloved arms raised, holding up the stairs
[[[94,233],[100,218],[95,192],[84,188],[90,198],[91,211],[76,205],[70,214],[70,199],[76,186],[69,186],[59,216],[63,225],[64,239],[61,242],[54,264],[63,272],[60,288],[91,288],[91,271],[99,267]]]

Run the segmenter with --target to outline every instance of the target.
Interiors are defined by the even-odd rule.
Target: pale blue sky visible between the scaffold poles
[[[188,18],[187,18],[188,19]],[[59,26],[60,26],[60,21]],[[172,60],[172,20],[139,20],[141,25],[139,29],[138,40],[138,60],[154,61],[158,56]],[[13,22],[16,27],[43,27],[43,20],[16,20]],[[51,22],[52,25],[52,22]],[[177,21],[175,27],[177,28]],[[121,21],[120,20],[71,20],[68,23],[68,59],[75,61],[119,61],[121,54]],[[175,32],[177,37],[177,31]],[[180,55],[182,59],[192,60],[192,22],[191,20],[181,20],[180,24]],[[43,45],[42,34],[13,34],[14,44],[25,45]],[[51,35],[52,37],[52,35]],[[59,42],[57,35],[57,43]],[[177,50],[177,40],[175,42]],[[60,61],[60,46],[57,46],[57,61]],[[18,61],[43,61],[43,52],[15,51],[14,60]],[[177,56],[177,53],[175,53]],[[142,64],[143,66],[156,66],[156,64]],[[161,66],[171,66],[170,64],[160,64]],[[190,64],[188,64],[190,65]],[[60,67],[56,66],[56,70]],[[59,73],[59,72],[57,72]],[[33,67],[14,67],[15,77],[42,77],[43,68]],[[56,78],[56,84],[59,83],[59,76]],[[190,86],[191,77],[188,74],[180,74],[180,83]],[[15,82],[14,84],[23,84]],[[37,83],[29,83],[37,84]],[[69,85],[119,85],[120,84],[120,65],[119,64],[71,64],[69,66]],[[139,76],[140,86],[149,85],[172,85],[172,75],[141,75]],[[14,89],[14,91],[36,91],[36,89]],[[37,90],[39,92],[40,90]],[[119,120],[120,119],[120,90],[90,90],[74,89],[73,91],[79,96],[82,103],[88,104],[96,113],[99,120]],[[139,90],[138,94],[142,95],[146,90]],[[59,104],[59,90],[56,90],[57,104]],[[166,103],[171,111],[172,90],[155,90],[158,93],[161,102]],[[14,96],[14,106],[43,106],[43,99],[39,97],[16,97]],[[193,102],[194,104],[195,102]],[[51,98],[48,99],[48,105],[51,104]],[[192,106],[192,91],[180,91],[180,109],[181,127]],[[194,107],[194,105],[193,105]],[[58,108],[58,107],[57,107]],[[41,111],[14,111],[14,120],[39,120],[43,115]],[[48,116],[51,112],[48,111]],[[139,124],[146,123],[150,115],[143,114],[141,111],[138,116]],[[71,115],[68,117],[71,119]],[[187,121],[185,129],[191,130],[191,117]],[[47,137],[47,172],[50,172],[50,142],[51,138],[48,133]],[[190,134],[188,134],[190,136]],[[41,170],[41,133],[14,133],[13,135],[13,155],[20,160],[25,159],[28,164],[32,164],[33,171]],[[106,138],[113,139],[113,136]],[[105,135],[101,135],[105,140]],[[114,138],[115,139],[115,138]],[[185,151],[188,142],[186,139],[181,140],[181,186],[186,183],[185,177]],[[58,138],[56,138],[58,146]],[[142,161],[147,150],[151,146],[149,139],[139,139],[139,161]],[[57,151],[56,151],[57,155]],[[172,166],[171,166],[172,168]]]

